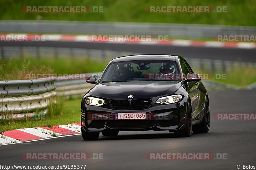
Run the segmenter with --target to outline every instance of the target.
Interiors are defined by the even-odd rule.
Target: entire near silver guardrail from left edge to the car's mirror
[[[0,81],[0,119],[31,117],[35,115],[33,112],[44,110],[56,94],[65,97],[80,97],[92,88],[93,85],[86,83],[85,79],[93,74],[100,76],[101,73],[83,74],[83,80],[48,77],[45,79]],[[41,111],[41,113],[45,114],[45,111]]]

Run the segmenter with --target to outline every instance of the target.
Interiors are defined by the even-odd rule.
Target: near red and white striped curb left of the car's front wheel
[[[49,127],[25,128],[5,131],[0,135],[0,144],[12,144],[60,137],[65,135],[81,134],[81,123]]]

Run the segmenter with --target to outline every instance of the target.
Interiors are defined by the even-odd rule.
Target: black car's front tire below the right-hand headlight
[[[190,137],[192,132],[192,118],[191,118],[191,105],[188,103],[187,114],[186,114],[186,126],[179,132],[175,132],[178,137]]]

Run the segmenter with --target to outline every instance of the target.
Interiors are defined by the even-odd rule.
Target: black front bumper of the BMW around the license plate
[[[115,120],[116,113],[140,113],[145,112],[145,120]],[[91,115],[96,119],[91,119]],[[109,115],[103,116],[102,115]],[[81,105],[81,127],[84,131],[145,131],[145,130],[169,130],[176,132],[185,127],[186,101],[184,100],[167,105],[151,104],[144,110],[114,110],[112,108]]]

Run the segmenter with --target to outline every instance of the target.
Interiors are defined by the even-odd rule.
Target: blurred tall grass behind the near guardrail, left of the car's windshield
[[[23,58],[0,61],[0,80],[24,79],[24,73],[101,72],[108,62],[88,58]],[[22,76],[23,75],[23,76]]]

